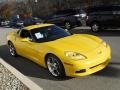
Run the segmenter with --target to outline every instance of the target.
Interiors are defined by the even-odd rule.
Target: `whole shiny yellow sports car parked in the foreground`
[[[88,34],[73,34],[53,24],[39,24],[7,36],[12,56],[26,57],[54,77],[85,76],[105,68],[111,58],[108,44]]]

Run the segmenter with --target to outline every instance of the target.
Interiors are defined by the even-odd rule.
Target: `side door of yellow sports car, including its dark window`
[[[28,39],[28,41],[26,41]],[[31,60],[38,61],[38,50],[36,45],[32,42],[30,32],[27,30],[21,30],[18,37],[16,37],[16,49],[18,53]]]

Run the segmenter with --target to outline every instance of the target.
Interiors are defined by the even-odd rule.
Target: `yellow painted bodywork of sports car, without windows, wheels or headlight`
[[[25,29],[31,30],[50,25],[52,24],[33,25]],[[105,68],[111,59],[109,45],[105,45],[105,42],[99,37],[88,34],[74,34],[50,42],[35,43],[30,41],[24,42],[16,32],[12,32],[7,36],[7,40],[14,44],[19,55],[29,58],[45,68],[45,56],[48,53],[56,55],[61,60],[67,76],[85,76],[95,73]],[[72,59],[65,55],[66,51],[80,53],[86,59]],[[86,72],[75,73],[81,69],[85,69]]]

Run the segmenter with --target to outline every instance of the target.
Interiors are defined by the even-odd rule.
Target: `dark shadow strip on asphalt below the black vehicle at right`
[[[71,29],[72,34],[92,34],[96,36],[120,36],[120,30],[101,30],[99,32],[92,32],[90,29]]]

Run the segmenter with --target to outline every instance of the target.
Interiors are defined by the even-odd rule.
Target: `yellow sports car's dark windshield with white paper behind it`
[[[53,41],[70,35],[69,32],[55,25],[33,29],[31,30],[31,34],[38,43]]]

